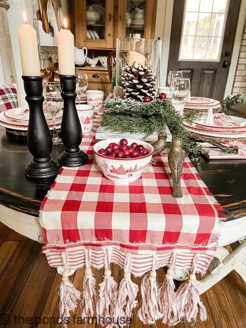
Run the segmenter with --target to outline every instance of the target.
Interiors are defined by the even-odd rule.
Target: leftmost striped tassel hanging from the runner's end
[[[77,301],[80,300],[81,293],[76,290],[74,284],[69,281],[68,258],[66,253],[62,253],[62,259],[65,271],[62,273],[62,282],[60,285],[60,318],[62,318],[62,327],[67,328],[65,318],[70,317],[70,312],[74,312]]]

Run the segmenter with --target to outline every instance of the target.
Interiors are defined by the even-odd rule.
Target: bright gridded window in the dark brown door
[[[229,0],[186,0],[179,60],[219,61]]]

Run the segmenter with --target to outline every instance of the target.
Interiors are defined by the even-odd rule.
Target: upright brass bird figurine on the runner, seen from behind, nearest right
[[[184,166],[185,155],[182,150],[182,139],[174,138],[172,149],[168,154],[168,165],[173,176],[173,197],[183,197],[180,187],[181,174]]]

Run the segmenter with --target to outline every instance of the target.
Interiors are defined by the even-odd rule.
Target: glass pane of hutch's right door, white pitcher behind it
[[[145,37],[146,0],[127,0],[126,3],[126,38]]]

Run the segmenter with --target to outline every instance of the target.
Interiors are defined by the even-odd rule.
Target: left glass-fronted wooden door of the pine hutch
[[[114,0],[75,0],[74,5],[76,47],[113,49]]]

